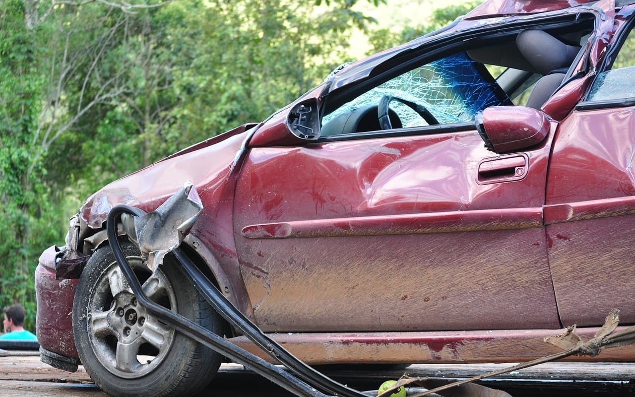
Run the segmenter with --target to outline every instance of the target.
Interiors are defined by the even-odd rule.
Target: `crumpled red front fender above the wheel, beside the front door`
[[[244,130],[244,128],[243,128]],[[234,162],[246,139],[246,133],[232,130],[213,138],[213,145],[196,145],[195,151],[185,149],[172,156],[107,185],[88,199],[81,213],[89,225],[100,227],[93,203],[107,197],[110,206],[124,204],[121,191],[131,200],[128,204],[150,212],[176,192],[185,181],[196,186],[206,210],[192,227],[187,241],[199,242],[197,252],[207,260],[221,288],[231,290],[229,299],[239,309],[249,312],[243,281],[237,272],[236,248],[232,231],[232,206],[235,177]],[[111,192],[116,194],[111,195]],[[213,266],[217,260],[220,266]]]

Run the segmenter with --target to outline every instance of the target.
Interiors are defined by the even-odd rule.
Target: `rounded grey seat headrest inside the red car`
[[[580,47],[569,46],[538,29],[520,32],[516,37],[516,46],[531,67],[542,75],[569,67],[580,51]]]

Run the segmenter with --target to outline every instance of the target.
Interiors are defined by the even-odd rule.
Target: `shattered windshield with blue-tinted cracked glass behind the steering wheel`
[[[485,65],[461,52],[380,84],[324,116],[323,124],[354,109],[377,105],[384,96],[425,107],[439,124],[471,121],[486,107],[511,105]],[[390,109],[396,112],[403,128],[428,125],[420,114],[398,100],[390,103]]]

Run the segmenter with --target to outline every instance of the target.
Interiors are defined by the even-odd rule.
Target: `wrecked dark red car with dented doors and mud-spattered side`
[[[210,381],[220,355],[137,308],[105,232],[185,180],[203,212],[184,252],[309,364],[526,361],[611,309],[632,325],[634,3],[485,1],[105,186],[39,261],[43,360],[114,395]],[[258,351],[168,260],[125,249],[152,300]]]

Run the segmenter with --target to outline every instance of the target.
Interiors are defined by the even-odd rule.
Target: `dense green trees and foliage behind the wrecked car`
[[[39,253],[110,180],[266,118],[350,60],[353,29],[429,29],[373,34],[356,2],[0,1],[0,304],[33,329]]]

